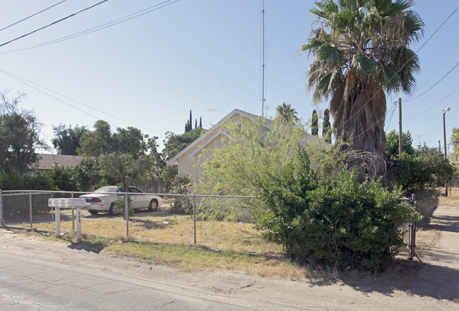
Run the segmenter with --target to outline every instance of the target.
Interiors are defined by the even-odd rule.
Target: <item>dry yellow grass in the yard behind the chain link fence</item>
[[[83,213],[82,213],[83,214]],[[70,211],[61,212],[61,232],[72,232]],[[28,224],[24,223],[27,227]],[[35,224],[34,228],[54,231],[54,222]],[[123,217],[92,217],[83,214],[81,229],[88,236],[126,239],[126,220]],[[194,243],[193,219],[184,215],[158,216],[155,213],[137,214],[129,220],[129,240],[172,245]],[[217,250],[261,254],[282,252],[282,247],[263,239],[253,224],[231,221],[196,221],[196,245]]]

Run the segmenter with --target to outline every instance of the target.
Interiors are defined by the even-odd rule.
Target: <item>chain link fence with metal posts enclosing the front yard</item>
[[[48,199],[81,197],[87,202],[87,208],[81,209],[81,231],[86,237],[254,254],[282,251],[254,227],[254,197],[34,190],[0,190],[0,194],[0,223],[5,226],[54,233],[55,211]],[[59,209],[61,235],[76,233],[75,215],[73,209]]]

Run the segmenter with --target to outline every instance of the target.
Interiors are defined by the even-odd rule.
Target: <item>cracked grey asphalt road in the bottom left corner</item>
[[[0,251],[0,310],[246,310],[154,279]]]

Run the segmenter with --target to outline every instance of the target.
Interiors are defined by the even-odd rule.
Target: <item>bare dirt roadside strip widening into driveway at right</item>
[[[429,207],[425,207],[429,209]],[[378,275],[350,272],[319,281],[270,279],[237,272],[183,273],[105,252],[52,243],[0,228],[0,249],[115,274],[155,279],[255,310],[459,310],[459,207],[430,207],[418,231],[417,258],[396,260]]]

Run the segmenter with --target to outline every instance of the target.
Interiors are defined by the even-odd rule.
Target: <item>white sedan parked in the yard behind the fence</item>
[[[86,200],[86,208],[91,215],[95,215],[98,212],[115,214],[114,201],[122,196],[121,193],[124,193],[123,187],[107,185],[88,195],[81,195],[80,198]],[[131,198],[133,209],[148,209],[153,212],[162,204],[161,197],[143,193],[136,187],[129,187],[128,195]]]

